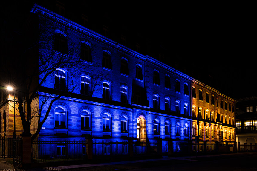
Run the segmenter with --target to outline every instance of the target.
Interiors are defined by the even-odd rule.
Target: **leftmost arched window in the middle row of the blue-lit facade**
[[[57,90],[65,91],[66,88],[66,74],[62,69],[54,71],[54,88]]]

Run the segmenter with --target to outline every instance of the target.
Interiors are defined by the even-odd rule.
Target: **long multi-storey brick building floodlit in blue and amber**
[[[36,99],[39,103],[35,100],[35,106],[45,97],[75,87],[69,96],[62,96],[53,103],[39,139],[60,142],[85,137],[115,141],[162,139],[163,146],[167,146],[169,139],[174,142],[192,140],[196,144],[199,137],[200,150],[205,142],[214,145],[215,141],[235,140],[235,100],[150,56],[127,48],[124,36],[122,43],[114,42],[107,38],[107,32],[105,36],[100,35],[39,5],[31,12],[39,15],[39,21],[53,22],[47,30],[52,38],[48,41],[51,49],[42,48],[41,53],[51,52],[58,58],[71,53],[71,48],[75,47],[73,50],[77,53],[71,53],[70,57],[81,60],[77,68],[56,68],[39,90]],[[104,77],[100,77],[102,80],[98,83],[95,76],[99,75]],[[39,81],[42,76],[44,73]],[[5,108],[6,105],[0,106],[0,112],[7,111]],[[2,128],[10,129],[6,133],[12,132],[12,118],[8,116],[9,127],[4,126],[7,121],[1,123]],[[32,133],[35,127],[33,120]],[[4,132],[2,129],[1,134]],[[210,149],[214,146],[208,145],[206,150]]]

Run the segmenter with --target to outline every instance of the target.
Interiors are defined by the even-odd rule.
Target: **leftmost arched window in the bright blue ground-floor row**
[[[62,106],[58,106],[54,109],[54,127],[67,128],[67,112]]]

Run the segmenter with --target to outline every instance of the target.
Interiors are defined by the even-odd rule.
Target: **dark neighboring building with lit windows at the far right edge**
[[[257,143],[257,97],[245,97],[237,101],[236,142],[254,145]]]

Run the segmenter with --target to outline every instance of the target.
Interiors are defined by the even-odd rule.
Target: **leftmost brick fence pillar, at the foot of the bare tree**
[[[31,166],[31,133],[23,132],[22,137],[22,168],[30,168]]]

